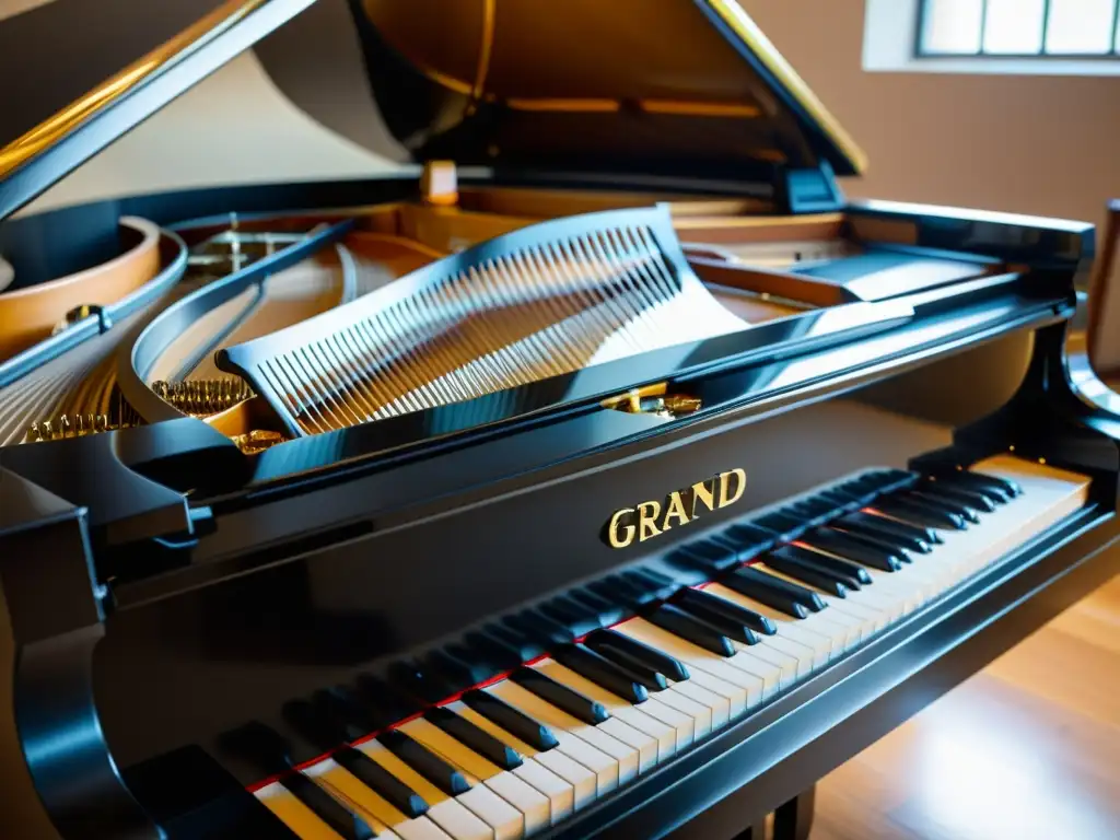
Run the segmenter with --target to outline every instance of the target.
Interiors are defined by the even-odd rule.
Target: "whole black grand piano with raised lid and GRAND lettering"
[[[3,837],[803,839],[1120,569],[1092,226],[729,0],[113,10],[0,24]],[[249,48],[414,166],[17,213]]]

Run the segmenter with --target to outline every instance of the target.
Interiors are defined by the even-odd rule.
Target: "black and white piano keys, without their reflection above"
[[[883,474],[864,474],[791,500],[786,506],[828,500],[830,493],[853,482],[881,487],[897,485],[898,478],[898,474],[887,473],[884,482]],[[594,631],[575,646],[558,646],[551,656],[528,669],[468,688],[461,700],[436,704],[423,717],[398,725],[396,731],[411,738],[412,749],[421,756],[416,762],[393,758],[394,752],[386,750],[381,736],[356,739],[356,748],[388,771],[408,795],[424,801],[422,809],[407,815],[388,801],[395,794],[395,790],[386,794],[382,786],[388,778],[363,784],[335,758],[316,759],[291,771],[321,788],[315,788],[316,796],[308,802],[299,793],[305,788],[280,782],[259,787],[255,795],[305,839],[370,836],[362,828],[352,830],[352,822],[375,827],[370,830],[377,837],[532,837],[617,787],[633,784],[670,762],[678,750],[749,715],[778,691],[787,691],[839,662],[860,644],[998,562],[1008,547],[1029,542],[1088,501],[1084,476],[999,456],[967,473],[925,477],[923,484],[931,486],[980,487],[980,496],[992,503],[990,511],[968,525],[928,526],[922,524],[921,516],[883,513],[889,502],[905,497],[918,483],[917,475],[902,478],[908,479],[902,487],[872,494],[867,519],[881,520],[888,528],[928,529],[930,544],[935,548],[915,552],[905,539],[893,541],[889,531],[884,531],[881,544],[903,559],[889,570],[880,568],[877,557],[865,554],[861,543],[829,541],[829,536],[844,533],[842,526],[832,526],[842,522],[843,516],[838,516],[827,521],[819,535],[787,545],[805,547],[806,553],[822,560],[848,563],[859,570],[861,582],[829,587],[820,585],[820,577],[796,567],[782,571],[775,558],[784,548],[775,545],[741,567],[713,569],[713,580],[682,588],[670,600],[682,615],[720,638],[719,650],[659,626],[647,612],[638,610]],[[833,513],[839,511],[833,507]],[[731,524],[712,539],[722,538],[725,544],[734,545],[735,538],[729,534],[759,520],[765,520],[765,514]],[[745,570],[752,571],[749,586],[738,582]],[[693,597],[682,597],[690,595]],[[706,596],[727,605],[722,615],[749,616],[743,626],[749,620],[771,632],[750,633],[746,643],[741,635],[724,635],[724,627],[712,622],[711,608],[701,606]],[[636,661],[644,661],[646,668],[635,669]],[[521,675],[530,672],[548,682],[538,684]],[[558,701],[549,689],[556,684],[571,692],[584,709],[572,701]],[[640,685],[645,690],[635,691]],[[510,731],[524,735],[526,727],[534,744]],[[564,775],[550,769],[545,756],[550,763],[560,758],[553,766]],[[442,769],[426,772],[424,759]],[[448,783],[448,767],[455,767],[464,781]],[[348,811],[345,831],[315,815],[323,791]],[[461,808],[452,808],[455,803]],[[339,818],[333,820],[338,823]]]

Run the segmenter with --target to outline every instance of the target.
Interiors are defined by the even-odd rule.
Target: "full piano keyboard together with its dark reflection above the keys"
[[[227,748],[268,775],[256,799],[304,840],[530,837],[998,563],[1088,488],[1012,456],[866,472],[488,625],[478,661],[319,691],[284,708],[287,735],[253,724]],[[542,653],[510,670],[526,644]],[[291,737],[320,757],[295,763]]]

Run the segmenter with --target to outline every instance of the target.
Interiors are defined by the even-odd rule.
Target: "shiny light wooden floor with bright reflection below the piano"
[[[810,840],[1120,839],[1120,577],[818,786]]]

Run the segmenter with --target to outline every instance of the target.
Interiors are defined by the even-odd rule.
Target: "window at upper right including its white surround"
[[[1120,76],[1120,0],[866,0],[864,69]]]

